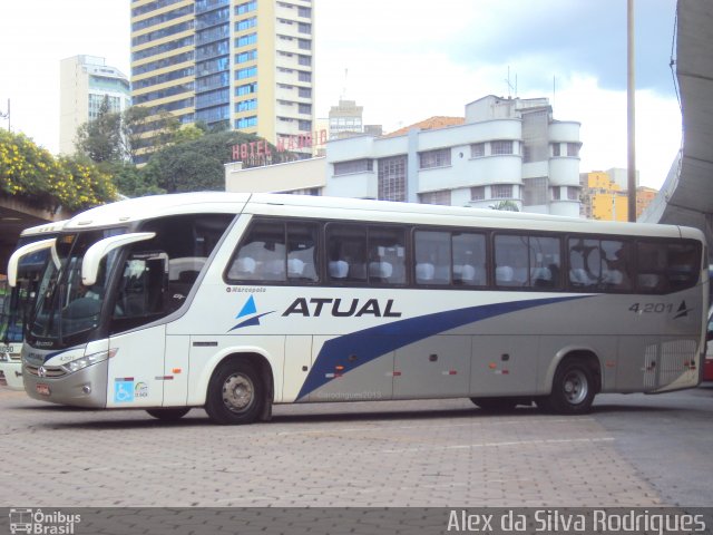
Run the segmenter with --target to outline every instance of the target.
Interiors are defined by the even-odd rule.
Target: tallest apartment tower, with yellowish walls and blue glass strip
[[[131,96],[157,118],[227,126],[309,157],[313,80],[312,0],[131,1]],[[145,137],[141,160],[150,127]]]

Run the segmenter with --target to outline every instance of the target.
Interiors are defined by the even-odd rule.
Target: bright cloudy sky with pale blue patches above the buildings
[[[462,117],[486,95],[547,97],[555,119],[582,124],[580,172],[626,167],[626,4],[315,0],[316,115],[355,100],[388,133]],[[655,188],[681,145],[675,4],[635,0],[636,167]],[[129,26],[130,0],[3,2],[0,113],[10,99],[12,130],[57,153],[60,60],[99,56],[128,76]]]

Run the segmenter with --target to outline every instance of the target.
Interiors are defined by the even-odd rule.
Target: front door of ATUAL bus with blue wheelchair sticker
[[[111,320],[111,332],[116,334],[109,339],[109,349],[115,353],[109,359],[107,407],[165,405],[164,387],[175,376],[165,369],[166,325],[144,325],[165,315],[167,285],[165,253],[134,253],[126,260]],[[175,343],[180,342],[172,341],[172,350]]]

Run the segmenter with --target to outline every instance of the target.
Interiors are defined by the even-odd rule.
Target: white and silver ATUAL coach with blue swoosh
[[[38,246],[53,262],[22,361],[40,400],[218,424],[457,397],[582,414],[597,392],[701,380],[693,228],[194,193],[90,210]]]

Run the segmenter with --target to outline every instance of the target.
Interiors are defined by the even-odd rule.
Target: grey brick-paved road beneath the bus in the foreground
[[[0,506],[713,505],[713,386],[600,396],[584,417],[470,401],[280,406],[166,425],[0,390]]]

